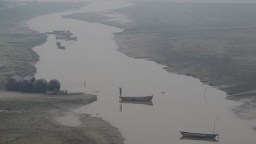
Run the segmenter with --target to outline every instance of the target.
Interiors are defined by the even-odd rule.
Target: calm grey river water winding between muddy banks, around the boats
[[[78,41],[66,42],[49,35],[46,43],[35,47],[40,55],[36,78],[56,78],[61,89],[98,95],[97,102],[73,110],[74,113],[103,117],[119,128],[125,143],[213,143],[180,140],[179,131],[212,133],[214,121],[219,143],[255,143],[255,132],[251,129],[255,121],[238,119],[231,111],[238,103],[225,100],[225,92],[203,85],[198,79],[168,73],[155,62],[124,56],[113,40],[113,33],[123,31],[119,28],[62,18],[76,12],[129,5],[122,1],[97,1],[79,11],[43,15],[28,21],[31,28],[40,32],[70,30],[78,37]],[[66,50],[57,49],[56,41]],[[152,103],[120,105],[119,86],[123,87],[124,96],[153,94]],[[63,124],[77,123],[75,117],[68,116]]]

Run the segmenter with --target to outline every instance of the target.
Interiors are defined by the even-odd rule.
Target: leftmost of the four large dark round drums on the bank
[[[8,91],[18,91],[21,79],[21,76],[18,75],[11,76],[11,78],[8,78],[7,81],[5,81],[5,88]]]

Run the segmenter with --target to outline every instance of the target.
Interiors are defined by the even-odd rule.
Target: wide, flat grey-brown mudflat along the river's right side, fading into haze
[[[164,69],[168,72],[193,76],[204,84],[225,91],[228,94],[226,97],[228,100],[243,102],[239,107],[233,108],[236,116],[241,119],[256,119],[256,114],[253,112],[256,99],[254,86],[256,61],[253,58],[255,55],[253,47],[256,43],[252,40],[255,36],[255,22],[249,21],[248,18],[249,24],[244,24],[239,20],[244,18],[242,15],[247,14],[247,11],[240,14],[233,9],[233,7],[244,9],[248,5],[254,9],[255,4],[200,3],[211,9],[209,12],[211,17],[219,17],[215,15],[215,9],[212,7],[219,8],[218,10],[223,12],[226,12],[225,9],[234,12],[231,16],[228,14],[220,16],[220,21],[216,19],[217,22],[210,19],[211,17],[208,20],[207,14],[201,14],[198,4],[172,3],[174,5],[172,7],[169,2],[165,2],[166,9],[161,2],[133,2],[133,4],[129,8],[85,12],[64,17],[123,28],[125,31],[116,33],[115,36],[119,45],[118,50],[121,53],[136,59],[152,60],[167,66]],[[175,9],[181,6],[187,7],[190,13],[191,11],[199,12],[197,15],[205,18],[204,21],[209,21],[209,23],[193,21],[197,17],[193,19],[193,14],[191,14],[192,18],[185,17],[184,21],[187,23],[181,25],[180,21],[183,17],[175,15],[176,11],[172,12],[169,8]],[[156,11],[158,7],[161,10]],[[222,7],[224,10],[220,9]],[[172,13],[174,15],[171,15]],[[116,14],[123,15],[121,18],[129,18],[130,21],[120,22],[116,20],[120,17],[115,19],[113,16]],[[169,20],[169,15],[176,19]],[[253,15],[247,16],[254,17]],[[233,20],[232,17],[237,19]],[[225,19],[224,22],[221,21],[222,18]],[[227,20],[231,22],[225,23]]]

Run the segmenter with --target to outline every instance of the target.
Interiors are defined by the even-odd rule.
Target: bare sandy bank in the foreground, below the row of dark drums
[[[0,91],[0,143],[122,143],[118,129],[100,117],[76,114],[78,127],[56,119],[92,103],[96,95],[46,95]]]

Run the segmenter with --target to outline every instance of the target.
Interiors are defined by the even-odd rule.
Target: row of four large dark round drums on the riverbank
[[[46,91],[59,91],[60,82],[57,79],[47,82],[46,79],[36,79],[34,76],[21,78],[21,76],[14,75],[5,81],[5,89],[8,91],[44,93]]]

